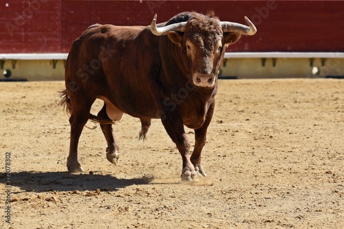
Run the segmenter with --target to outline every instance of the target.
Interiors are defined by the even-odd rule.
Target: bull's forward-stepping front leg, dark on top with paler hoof
[[[166,116],[162,118],[162,124],[170,138],[176,144],[180,155],[182,155],[182,180],[196,180],[197,173],[190,160],[190,141],[184,131],[184,124],[181,116],[176,112],[166,113]]]

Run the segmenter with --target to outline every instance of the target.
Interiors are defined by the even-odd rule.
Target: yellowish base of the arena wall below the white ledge
[[[311,53],[312,54],[312,53]],[[222,78],[323,78],[326,76],[344,76],[344,57],[326,55],[315,57],[303,54],[298,58],[290,54],[267,55],[233,54],[225,56],[224,63],[219,71]],[[254,56],[256,55],[256,56]],[[265,55],[265,56],[264,56]],[[0,80],[63,80],[65,76],[65,58],[47,59],[0,59]],[[49,56],[51,58],[51,56]],[[14,57],[12,57],[14,58]],[[30,58],[33,58],[30,56]],[[7,76],[7,77],[6,77]]]

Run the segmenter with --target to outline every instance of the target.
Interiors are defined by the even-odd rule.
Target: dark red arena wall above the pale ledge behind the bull
[[[6,5],[8,3],[8,5]],[[344,52],[344,1],[1,1],[0,53],[69,52],[94,23],[149,25],[178,12],[215,14],[257,25],[229,48],[235,52]]]

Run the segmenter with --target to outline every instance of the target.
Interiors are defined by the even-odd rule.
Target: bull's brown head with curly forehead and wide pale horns
[[[257,32],[255,25],[245,17],[249,26],[219,21],[213,14],[192,13],[189,21],[157,27],[155,14],[151,32],[156,36],[167,35],[184,50],[189,60],[193,83],[200,87],[213,87],[224,57],[226,47],[243,35]]]

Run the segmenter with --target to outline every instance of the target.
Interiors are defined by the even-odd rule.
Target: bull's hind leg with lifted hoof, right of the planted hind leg
[[[98,117],[111,120],[109,116],[107,116],[107,109],[106,103],[104,102],[103,108],[99,111]],[[102,129],[105,139],[107,140],[107,160],[112,164],[118,164],[118,158],[120,157],[120,146],[116,141],[114,135],[114,129],[112,128],[112,124],[100,124],[100,128]]]

